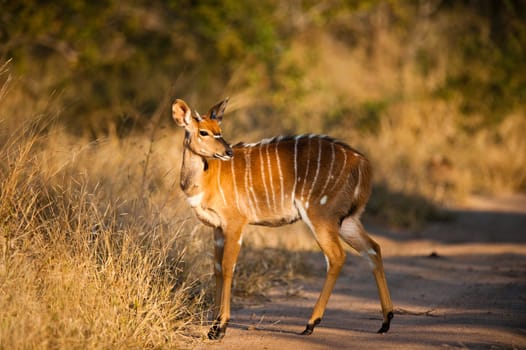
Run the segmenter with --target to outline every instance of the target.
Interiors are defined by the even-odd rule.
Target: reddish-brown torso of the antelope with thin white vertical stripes
[[[343,218],[359,214],[369,198],[368,161],[327,136],[280,136],[233,151],[219,165],[218,189],[223,204],[234,203],[251,223],[280,225],[302,211]]]

